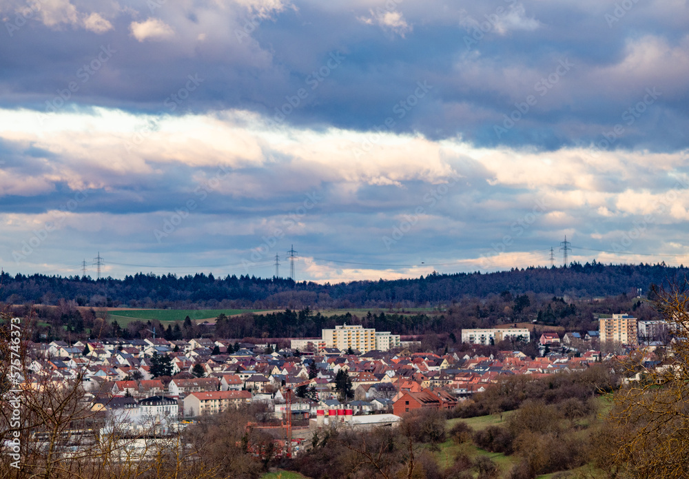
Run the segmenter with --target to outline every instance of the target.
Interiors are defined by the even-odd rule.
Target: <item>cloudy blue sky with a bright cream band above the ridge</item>
[[[0,266],[688,264],[689,8],[0,0]],[[551,248],[553,260],[551,261]]]

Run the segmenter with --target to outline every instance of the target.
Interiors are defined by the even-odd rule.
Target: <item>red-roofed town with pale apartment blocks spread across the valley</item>
[[[625,334],[627,323],[636,326],[635,318],[617,316],[624,316]],[[601,319],[603,334],[610,321]],[[266,427],[284,425],[276,441],[294,440],[287,446],[292,455],[309,431],[333,422],[352,428],[396,425],[415,409],[453,409],[504,375],[583,371],[601,360],[597,331],[562,338],[544,332],[538,338],[539,356],[533,358],[519,350],[480,352],[509,341],[528,343],[532,330],[466,329],[462,343],[468,348],[442,355],[419,351],[419,341],[360,325],[324,329],[322,338],[261,344],[159,337],[30,343],[31,374],[24,380],[25,387],[37,389],[46,382],[78,379],[90,409],[116,418],[132,434],[150,428],[170,434],[199,416],[260,403],[272,419]],[[632,345],[626,339],[624,344]],[[290,347],[278,348],[288,341]],[[288,423],[294,438],[285,436]]]

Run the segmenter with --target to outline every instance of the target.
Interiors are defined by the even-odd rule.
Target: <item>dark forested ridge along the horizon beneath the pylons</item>
[[[124,279],[0,274],[0,301],[10,304],[54,304],[60,299],[79,305],[132,307],[388,307],[442,305],[466,296],[484,297],[509,291],[573,298],[646,294],[652,283],[684,278],[688,268],[659,265],[572,263],[570,267],[513,269],[490,274],[429,274],[395,281],[294,283],[282,278],[213,274],[176,276],[135,274]]]

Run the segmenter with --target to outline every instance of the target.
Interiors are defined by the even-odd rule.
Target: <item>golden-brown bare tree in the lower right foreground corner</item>
[[[689,282],[657,291],[672,344],[663,364],[644,367],[642,354],[618,368],[628,377],[598,436],[598,463],[617,478],[686,478],[689,471]]]

